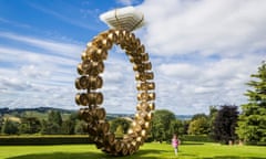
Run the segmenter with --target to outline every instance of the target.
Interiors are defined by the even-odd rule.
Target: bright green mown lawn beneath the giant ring
[[[94,145],[63,146],[0,146],[0,159],[111,159],[112,156],[98,150]],[[166,144],[145,144],[140,151],[130,157],[116,159],[265,159],[266,147],[222,146],[218,144],[187,142],[180,147],[178,157]]]

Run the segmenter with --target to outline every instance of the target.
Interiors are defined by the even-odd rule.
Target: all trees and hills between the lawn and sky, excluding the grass
[[[244,95],[248,102],[235,105],[209,106],[209,113],[195,114],[190,119],[176,118],[167,109],[155,110],[146,141],[170,142],[177,134],[182,140],[218,141],[225,145],[266,145],[266,63],[252,74],[250,87]],[[238,110],[241,108],[241,110]],[[111,132],[123,137],[134,120],[134,114],[109,114]],[[59,108],[0,109],[2,135],[86,135],[86,123],[79,112]],[[205,136],[205,138],[201,138]],[[186,137],[185,137],[186,136]],[[198,138],[197,138],[198,137]]]

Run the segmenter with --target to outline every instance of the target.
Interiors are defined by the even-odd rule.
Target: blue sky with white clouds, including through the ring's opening
[[[85,44],[108,30],[99,15],[134,6],[151,55],[156,108],[177,115],[241,105],[266,60],[265,0],[0,0],[0,107],[78,109],[74,81]],[[134,72],[114,47],[103,73],[108,113],[134,113]]]

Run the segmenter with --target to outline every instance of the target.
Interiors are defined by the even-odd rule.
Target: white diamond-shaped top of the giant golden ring
[[[133,31],[144,25],[144,15],[134,7],[125,7],[108,11],[100,15],[111,29]]]

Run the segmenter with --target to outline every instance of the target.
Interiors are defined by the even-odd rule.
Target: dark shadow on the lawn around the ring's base
[[[51,152],[51,153],[29,153],[7,159],[157,159],[157,157],[147,157],[149,153],[162,153],[163,150],[140,150],[132,156],[114,157],[103,152]]]

